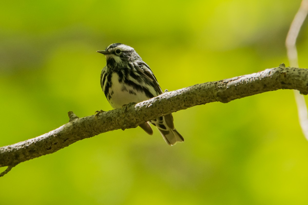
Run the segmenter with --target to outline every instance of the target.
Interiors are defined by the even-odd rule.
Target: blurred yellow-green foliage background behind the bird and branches
[[[0,146],[58,128],[70,110],[110,110],[95,51],[111,43],[135,48],[169,91],[288,66],[284,42],[300,2],[2,1]],[[302,68],[307,34],[305,22]],[[308,142],[292,90],[174,119],[185,138],[174,147],[157,130],[116,130],[21,163],[0,178],[0,204],[308,203]]]

